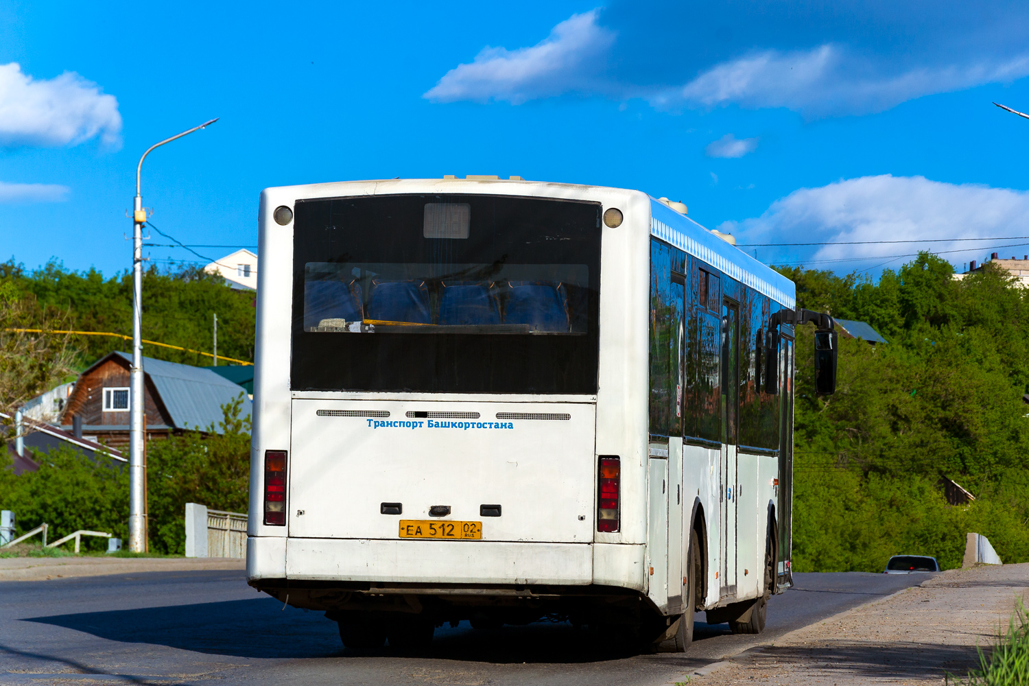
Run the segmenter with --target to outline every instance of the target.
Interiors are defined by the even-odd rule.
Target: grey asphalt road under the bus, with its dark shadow
[[[344,650],[335,623],[246,585],[242,571],[0,583],[0,684],[667,684],[924,575],[797,574],[759,636],[698,622],[684,655],[611,655],[566,623],[436,629],[424,656]],[[699,618],[704,615],[699,614]]]

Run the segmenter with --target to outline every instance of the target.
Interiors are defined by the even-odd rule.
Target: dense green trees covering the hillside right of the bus
[[[794,568],[879,571],[906,552],[955,567],[969,531],[1029,559],[1026,291],[989,264],[956,280],[928,254],[878,283],[784,272],[801,306],[890,339],[841,339],[837,393],[820,397],[813,330],[796,332]],[[949,506],[944,476],[975,501]]]

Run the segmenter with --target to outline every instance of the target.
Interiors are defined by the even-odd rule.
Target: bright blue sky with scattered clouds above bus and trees
[[[991,101],[1029,111],[1027,38],[1017,2],[7,2],[0,258],[128,267],[139,155],[215,116],[144,164],[187,244],[252,246],[267,186],[516,174],[681,200],[776,263],[1021,257],[1029,119]],[[956,238],[986,240],[875,243]],[[832,241],[873,243],[781,245]]]

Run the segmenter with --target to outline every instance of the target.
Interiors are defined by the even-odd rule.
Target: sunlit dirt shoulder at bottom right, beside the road
[[[790,686],[939,684],[964,677],[1029,601],[1029,564],[951,570],[881,601],[791,631],[728,660],[690,684]]]

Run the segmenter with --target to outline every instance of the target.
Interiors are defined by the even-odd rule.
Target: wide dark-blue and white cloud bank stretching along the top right
[[[817,117],[881,112],[1029,75],[1029,9],[1012,2],[969,13],[955,2],[854,0],[836,3],[839,12],[828,14],[817,4],[758,3],[746,16],[732,3],[665,4],[638,11],[615,0],[572,15],[531,47],[486,47],[424,97],[518,104],[578,93],[623,104],[640,98],[666,110],[735,104]],[[715,31],[691,35],[683,51],[681,23],[698,12],[706,17],[697,20],[702,25],[735,27],[730,38],[739,33],[733,45],[741,48],[728,48],[729,39]],[[665,21],[654,25],[655,16]]]

